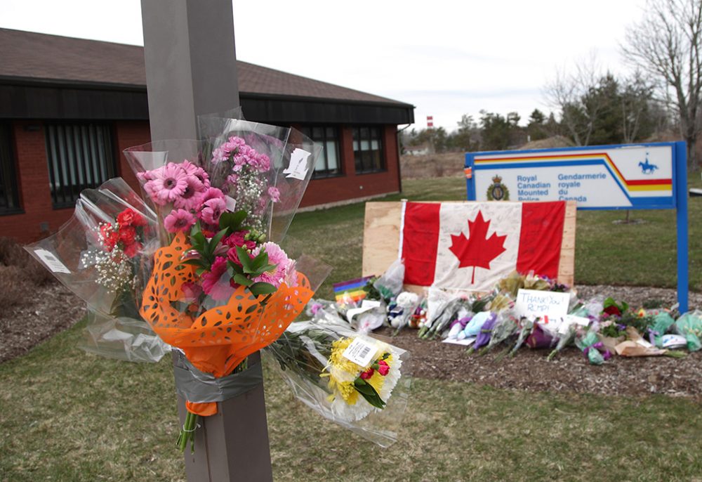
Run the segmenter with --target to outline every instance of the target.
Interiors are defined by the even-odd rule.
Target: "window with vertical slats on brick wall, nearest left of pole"
[[[46,159],[53,207],[71,207],[81,190],[114,177],[108,124],[47,124]]]

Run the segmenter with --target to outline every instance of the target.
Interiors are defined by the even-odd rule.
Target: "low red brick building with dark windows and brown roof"
[[[412,105],[241,61],[238,75],[246,119],[324,145],[302,207],[401,190]],[[138,188],[122,150],[150,140],[143,47],[0,28],[0,235],[55,230],[107,178]]]

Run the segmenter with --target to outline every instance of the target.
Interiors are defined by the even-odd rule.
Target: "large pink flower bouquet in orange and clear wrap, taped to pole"
[[[140,314],[183,353],[181,450],[198,415],[260,382],[247,357],[284,332],[322,281],[279,245],[321,148],[293,129],[238,119],[201,119],[201,134],[125,150],[157,213],[161,247]]]

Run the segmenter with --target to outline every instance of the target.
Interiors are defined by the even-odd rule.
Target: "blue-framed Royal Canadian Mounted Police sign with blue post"
[[[468,152],[471,201],[573,200],[578,209],[675,209],[677,300],[688,309],[684,142]]]

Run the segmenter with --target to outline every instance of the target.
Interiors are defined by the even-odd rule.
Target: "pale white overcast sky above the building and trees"
[[[482,109],[548,114],[545,84],[592,53],[624,74],[618,46],[644,5],[234,0],[234,34],[239,60],[411,103],[413,127],[433,115],[450,131]],[[139,0],[0,0],[0,27],[143,45]]]

